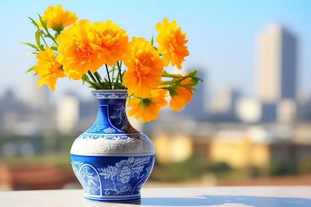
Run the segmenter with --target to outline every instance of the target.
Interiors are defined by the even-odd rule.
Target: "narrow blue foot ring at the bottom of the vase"
[[[141,202],[141,195],[135,195],[132,197],[122,197],[122,196],[115,196],[115,198],[99,198],[99,197],[90,197],[84,195],[84,200],[90,202],[98,202],[98,203],[140,203]]]

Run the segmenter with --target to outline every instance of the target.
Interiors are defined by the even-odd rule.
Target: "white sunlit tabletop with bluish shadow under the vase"
[[[82,190],[0,192],[0,207],[311,207],[311,186],[144,188],[140,203],[89,202]]]

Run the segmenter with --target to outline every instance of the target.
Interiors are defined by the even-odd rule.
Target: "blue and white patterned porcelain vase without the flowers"
[[[84,199],[137,202],[155,163],[155,147],[126,116],[127,90],[93,90],[99,109],[93,126],[74,141],[70,154]]]

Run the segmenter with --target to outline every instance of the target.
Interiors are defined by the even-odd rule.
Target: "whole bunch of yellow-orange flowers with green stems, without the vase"
[[[176,21],[167,18],[156,24],[155,41],[142,37],[129,40],[126,31],[111,20],[79,20],[62,5],[49,6],[39,20],[30,18],[37,28],[36,44],[23,43],[34,50],[37,65],[28,69],[40,79],[37,86],[53,91],[58,78],[81,80],[94,89],[128,89],[129,115],[142,122],[157,119],[161,107],[180,111],[189,103],[194,85],[202,80],[196,70],[172,74],[164,68],[181,69],[189,55],[186,33]],[[158,44],[155,46],[155,42]]]

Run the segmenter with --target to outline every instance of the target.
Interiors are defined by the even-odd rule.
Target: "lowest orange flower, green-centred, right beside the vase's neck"
[[[156,120],[160,108],[167,105],[165,100],[167,96],[167,90],[153,89],[146,99],[132,97],[127,104],[128,107],[132,107],[129,115],[134,116],[135,119],[142,118],[143,123]]]

